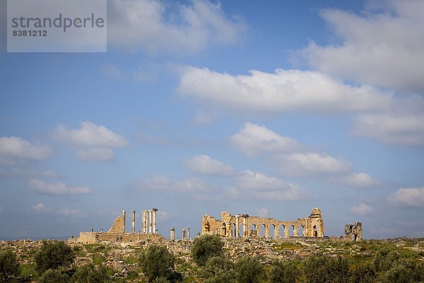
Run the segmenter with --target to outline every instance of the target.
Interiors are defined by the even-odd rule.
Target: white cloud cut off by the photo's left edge
[[[14,165],[25,160],[41,160],[52,154],[49,146],[30,144],[20,137],[0,137],[0,165]]]

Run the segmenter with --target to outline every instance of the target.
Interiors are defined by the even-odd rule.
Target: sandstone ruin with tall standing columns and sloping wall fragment
[[[122,214],[114,220],[112,227],[106,233],[102,231],[95,232],[93,229],[91,232],[80,232],[78,238],[73,239],[78,243],[100,243],[104,241],[111,242],[136,242],[136,241],[151,241],[158,242],[164,241],[162,235],[158,233],[156,229],[156,212],[158,209],[148,209],[141,211],[141,231],[136,233],[136,211],[132,211],[131,219],[131,231],[126,233],[126,212],[122,211]]]

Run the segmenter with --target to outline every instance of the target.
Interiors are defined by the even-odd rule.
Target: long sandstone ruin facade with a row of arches
[[[264,229],[265,238],[324,237],[324,220],[319,208],[312,209],[310,216],[296,221],[281,221],[248,214],[232,215],[229,212],[221,212],[221,219],[216,219],[206,214],[201,224],[201,233],[228,238],[259,237],[261,227]]]

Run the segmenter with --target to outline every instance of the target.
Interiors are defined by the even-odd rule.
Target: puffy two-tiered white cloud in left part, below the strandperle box
[[[58,125],[53,136],[76,148],[81,161],[106,162],[114,159],[112,148],[128,146],[128,141],[105,126],[81,122],[79,129]]]

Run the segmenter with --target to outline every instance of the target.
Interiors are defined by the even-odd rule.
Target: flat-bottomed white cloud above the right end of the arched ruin
[[[351,171],[348,162],[317,152],[284,154],[277,162],[280,173],[290,176],[338,175]]]

